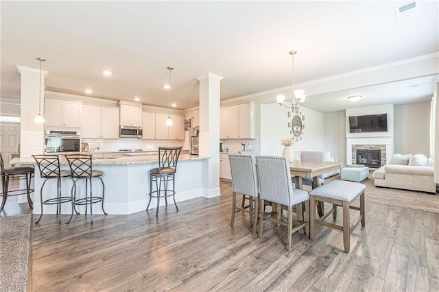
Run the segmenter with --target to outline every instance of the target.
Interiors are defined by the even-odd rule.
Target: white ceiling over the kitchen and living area
[[[208,72],[224,77],[222,101],[275,101],[291,88],[294,49],[307,108],[427,102],[439,82],[438,1],[417,2],[417,14],[397,21],[394,8],[406,3],[1,1],[1,97],[19,99],[16,65],[38,68],[43,57],[49,91],[91,88],[167,107],[174,66],[178,109],[198,106],[195,78]],[[354,93],[364,98],[350,104]]]

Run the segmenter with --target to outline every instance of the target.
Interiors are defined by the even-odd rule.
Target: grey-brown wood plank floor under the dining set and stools
[[[261,239],[248,215],[230,228],[231,185],[133,215],[84,215],[70,225],[45,215],[34,225],[33,291],[439,291],[439,215],[366,202],[366,227],[318,226],[316,239],[267,223]],[[28,212],[27,204],[6,213]],[[1,216],[5,215],[3,212]],[[341,215],[341,211],[340,211]],[[341,216],[340,216],[341,217]],[[64,222],[68,216],[64,216]]]

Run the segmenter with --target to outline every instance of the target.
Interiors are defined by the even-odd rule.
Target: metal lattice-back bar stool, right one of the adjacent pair
[[[91,154],[71,154],[66,155],[66,158],[69,162],[71,179],[73,181],[73,186],[71,187],[73,208],[75,208],[75,205],[85,205],[85,214],[87,214],[87,206],[90,205],[90,221],[93,224],[93,204],[102,202],[102,212],[104,212],[104,215],[108,215],[104,210],[105,186],[102,180],[104,172],[92,169]],[[102,195],[100,197],[93,195],[92,178],[99,178],[101,181]],[[76,199],[76,182],[78,182],[78,180],[85,180],[85,197],[80,199]],[[88,183],[90,183],[90,188],[88,188]],[[79,214],[76,208],[75,212]]]

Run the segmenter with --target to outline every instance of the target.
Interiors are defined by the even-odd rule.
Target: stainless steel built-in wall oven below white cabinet
[[[81,137],[76,131],[47,130],[45,136],[45,152],[79,152]]]

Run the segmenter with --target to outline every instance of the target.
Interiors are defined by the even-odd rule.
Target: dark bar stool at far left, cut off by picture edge
[[[34,189],[30,188],[32,178],[34,177],[33,167],[5,167],[3,163],[3,157],[0,154],[0,173],[1,173],[1,186],[3,188],[1,196],[0,212],[3,210],[6,204],[6,199],[8,196],[13,195],[27,195],[27,204],[29,208],[34,208],[32,203],[32,198],[30,193],[34,193]],[[26,180],[26,188],[21,188],[19,190],[9,191],[9,180],[11,177],[18,178],[18,180]]]

